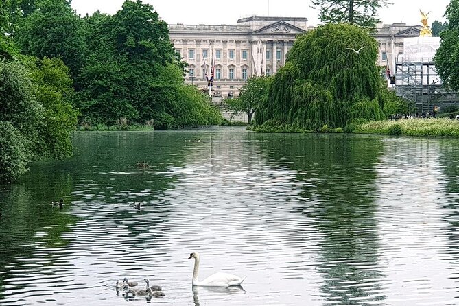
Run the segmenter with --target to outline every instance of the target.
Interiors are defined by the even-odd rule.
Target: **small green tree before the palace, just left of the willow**
[[[268,89],[271,82],[272,78],[266,76],[249,78],[247,83],[242,86],[239,97],[226,99],[226,105],[233,111],[233,115],[246,113],[247,123],[250,124],[259,104],[268,99]]]

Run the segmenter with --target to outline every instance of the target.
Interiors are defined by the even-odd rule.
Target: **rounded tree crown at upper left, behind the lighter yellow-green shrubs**
[[[36,8],[19,24],[16,43],[27,55],[62,58],[75,77],[86,52],[80,18],[65,0],[40,0]]]

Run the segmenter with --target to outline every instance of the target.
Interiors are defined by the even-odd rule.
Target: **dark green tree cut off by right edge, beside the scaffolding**
[[[440,33],[440,47],[436,51],[434,62],[443,86],[459,89],[459,0],[451,0],[445,16],[447,27]]]

